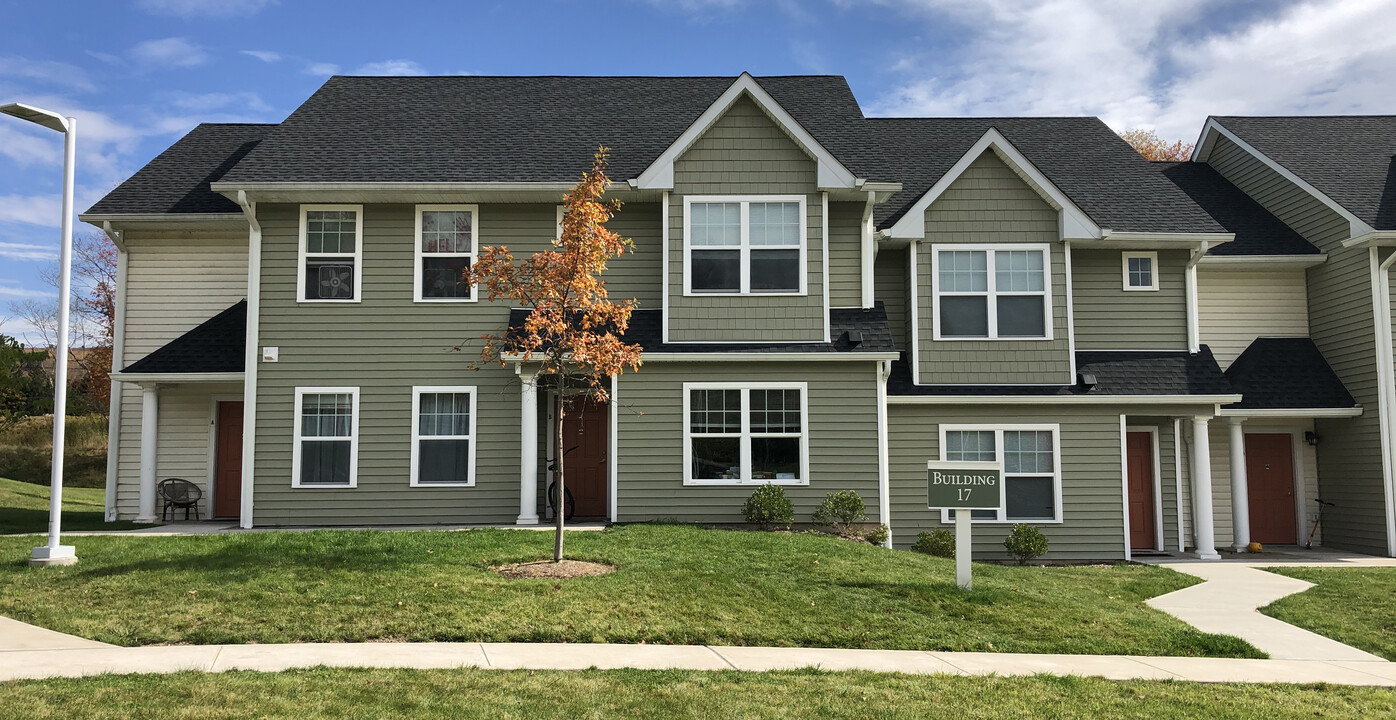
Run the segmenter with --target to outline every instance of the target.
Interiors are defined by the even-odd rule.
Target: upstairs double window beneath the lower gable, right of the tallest
[[[935,339],[1051,339],[1047,246],[933,246]]]

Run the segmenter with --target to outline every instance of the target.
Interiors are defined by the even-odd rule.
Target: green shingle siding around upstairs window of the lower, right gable
[[[926,240],[917,247],[920,382],[927,385],[1069,384],[1067,267],[1057,211],[993,152],[976,159],[926,211]],[[1050,243],[1051,340],[934,339],[933,244]]]

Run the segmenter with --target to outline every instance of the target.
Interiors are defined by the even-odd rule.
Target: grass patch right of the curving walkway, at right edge
[[[1396,568],[1266,568],[1315,583],[1266,615],[1396,660]]]

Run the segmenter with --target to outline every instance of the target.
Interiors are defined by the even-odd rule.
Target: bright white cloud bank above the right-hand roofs
[[[906,78],[875,114],[1094,114],[1192,140],[1208,114],[1396,112],[1396,0],[1259,6],[1224,31],[1201,22],[1201,0],[879,4],[965,46],[892,59]]]

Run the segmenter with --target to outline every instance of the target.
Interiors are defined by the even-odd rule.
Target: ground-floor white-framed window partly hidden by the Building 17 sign
[[[1060,522],[1061,449],[1057,426],[941,426],[941,459],[1001,462],[1004,507],[973,511],[983,522]],[[941,522],[952,522],[949,511]]]

